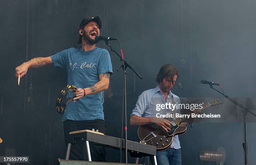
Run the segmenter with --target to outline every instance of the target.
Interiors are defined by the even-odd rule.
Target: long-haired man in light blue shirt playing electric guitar
[[[168,113],[180,113],[179,109],[171,110],[165,108],[156,110],[157,104],[167,103],[180,103],[180,99],[177,95],[174,95],[171,91],[173,85],[179,77],[179,71],[177,67],[172,64],[163,65],[156,77],[158,85],[150,90],[146,90],[141,93],[136,102],[136,106],[131,114],[130,124],[131,125],[149,125],[156,124],[163,128],[166,132],[170,130],[168,128],[171,124],[169,120],[164,118],[156,117],[157,113],[168,114]],[[182,122],[180,126],[187,126],[187,122]],[[190,125],[191,126],[191,125]],[[156,160],[158,165],[181,165],[181,149],[179,144],[178,135],[174,136],[173,142],[170,148],[157,151]]]

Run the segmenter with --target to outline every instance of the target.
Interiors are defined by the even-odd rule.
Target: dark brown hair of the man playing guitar
[[[159,70],[159,73],[156,77],[156,81],[158,83],[162,82],[164,78],[166,77],[171,77],[172,78],[172,83],[173,83],[173,77],[174,75],[177,75],[177,79],[179,77],[179,70],[177,69],[177,67],[175,67],[174,65],[172,64],[166,64],[166,65],[163,65],[160,70]]]

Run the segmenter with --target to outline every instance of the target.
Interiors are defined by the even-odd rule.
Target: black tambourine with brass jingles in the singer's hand
[[[71,92],[72,90],[77,90],[76,85],[67,85],[67,87],[64,87],[61,90],[61,92],[56,100],[56,110],[58,113],[64,114],[65,109],[66,109],[67,105],[69,104],[69,102],[71,102],[71,101],[76,102],[76,100],[73,100],[73,98],[75,96],[66,98],[67,92]],[[79,100],[79,99],[77,99],[77,100]]]

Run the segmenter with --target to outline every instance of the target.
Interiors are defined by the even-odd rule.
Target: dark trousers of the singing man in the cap
[[[106,132],[104,120],[66,120],[63,122],[63,127],[66,145],[68,144],[67,135],[72,131],[95,129],[95,131],[99,130],[100,133],[105,134]],[[104,147],[90,143],[90,153],[92,161],[106,161],[106,151]],[[69,160],[88,160],[85,143],[82,143],[81,140],[77,140],[75,145],[71,145]]]

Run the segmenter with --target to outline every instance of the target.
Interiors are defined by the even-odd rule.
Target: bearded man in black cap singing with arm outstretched
[[[102,91],[108,89],[113,73],[108,50],[96,47],[95,36],[100,35],[99,17],[84,18],[79,26],[78,48],[69,48],[49,57],[36,57],[15,68],[16,77],[23,77],[28,68],[54,64],[67,68],[69,85],[76,85],[74,100],[67,106],[62,121],[67,144],[69,132],[77,130],[99,130],[105,134]],[[68,93],[67,97],[73,94]],[[105,161],[105,148],[90,144],[92,161]],[[72,145],[69,159],[86,160],[84,143]]]

